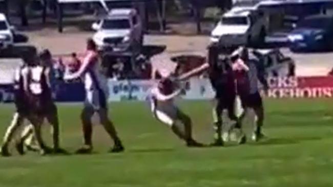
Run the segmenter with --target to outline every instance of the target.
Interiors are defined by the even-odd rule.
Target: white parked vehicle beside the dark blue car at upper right
[[[222,15],[211,42],[225,46],[264,43],[268,21],[255,8],[235,7]]]

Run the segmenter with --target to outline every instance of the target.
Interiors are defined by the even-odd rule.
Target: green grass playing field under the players
[[[107,153],[110,139],[95,125],[94,154],[0,158],[0,186],[333,186],[333,101],[267,100],[265,106],[265,141],[199,149],[186,148],[145,104],[112,103],[124,153]],[[210,103],[181,107],[192,116],[195,137],[210,143]],[[61,143],[71,152],[81,145],[80,109],[59,105]],[[12,111],[0,107],[1,134]]]

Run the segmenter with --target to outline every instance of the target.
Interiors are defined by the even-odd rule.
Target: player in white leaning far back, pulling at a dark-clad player
[[[171,127],[172,131],[186,142],[188,147],[202,147],[192,137],[192,121],[190,116],[183,113],[174,103],[180,95],[180,88],[176,81],[162,74],[164,78],[158,81],[157,86],[151,89],[151,110],[157,120]],[[184,125],[184,131],[179,123]]]

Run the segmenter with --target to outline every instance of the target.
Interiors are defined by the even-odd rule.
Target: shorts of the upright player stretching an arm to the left
[[[100,108],[107,109],[107,98],[106,91],[97,89],[86,90],[85,106],[92,107],[95,110]]]

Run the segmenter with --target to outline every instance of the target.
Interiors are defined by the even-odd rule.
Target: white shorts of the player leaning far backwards
[[[175,105],[155,106],[152,102],[152,112],[157,120],[172,126],[178,119],[178,108]]]

